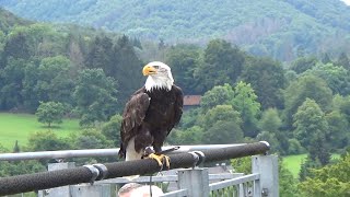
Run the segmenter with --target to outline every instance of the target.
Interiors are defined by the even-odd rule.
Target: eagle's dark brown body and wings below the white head
[[[171,90],[150,91],[143,86],[136,91],[122,114],[119,157],[126,157],[131,142],[138,153],[143,154],[149,146],[160,152],[165,138],[179,123],[182,114],[183,92],[178,86],[173,84]]]

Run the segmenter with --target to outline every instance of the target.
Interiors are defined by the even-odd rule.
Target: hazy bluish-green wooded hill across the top
[[[23,18],[77,23],[165,43],[225,38],[254,55],[350,51],[350,7],[339,0],[2,0]]]

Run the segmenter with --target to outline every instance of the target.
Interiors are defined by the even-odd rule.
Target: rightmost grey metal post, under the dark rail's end
[[[260,174],[258,196],[279,196],[277,155],[252,157],[252,171]]]

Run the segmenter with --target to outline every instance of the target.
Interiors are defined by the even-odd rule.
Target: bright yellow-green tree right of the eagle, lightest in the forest
[[[243,81],[234,86],[234,97],[232,99],[234,109],[240,112],[243,120],[242,129],[245,137],[256,137],[257,117],[260,114],[260,103],[250,84]]]

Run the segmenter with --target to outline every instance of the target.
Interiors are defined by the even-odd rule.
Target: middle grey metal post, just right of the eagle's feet
[[[177,184],[179,189],[187,189],[188,197],[209,196],[208,169],[179,170]]]

